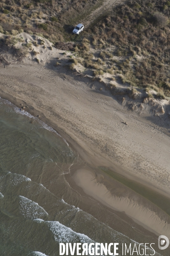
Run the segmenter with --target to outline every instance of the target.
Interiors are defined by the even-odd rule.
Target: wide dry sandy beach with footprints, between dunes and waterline
[[[85,161],[169,193],[170,137],[163,128],[149,116],[128,111],[108,91],[99,91],[98,82],[54,68],[51,60],[60,54],[51,52],[41,65],[26,61],[1,66],[0,90],[43,113],[68,142],[75,142]]]

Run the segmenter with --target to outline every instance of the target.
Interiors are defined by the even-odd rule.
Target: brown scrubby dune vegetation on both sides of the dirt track
[[[54,45],[70,41],[75,52],[71,70],[79,64],[101,81],[105,73],[110,74],[111,88],[116,87],[115,79],[121,79],[123,84],[145,88],[150,98],[150,90],[157,92],[154,97],[169,97],[170,1],[127,1],[93,20],[79,36],[72,35],[73,25],[102,3],[1,0],[0,32],[6,35],[1,46],[14,45],[20,32],[48,38]]]

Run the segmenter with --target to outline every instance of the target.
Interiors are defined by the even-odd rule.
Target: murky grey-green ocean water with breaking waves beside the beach
[[[155,242],[70,187],[65,175],[79,164],[56,131],[0,99],[1,256],[58,256],[61,242]]]

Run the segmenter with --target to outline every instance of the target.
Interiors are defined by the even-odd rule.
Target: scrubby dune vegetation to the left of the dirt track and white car
[[[53,43],[65,41],[71,25],[101,4],[102,0],[1,0],[0,32],[24,31]]]

